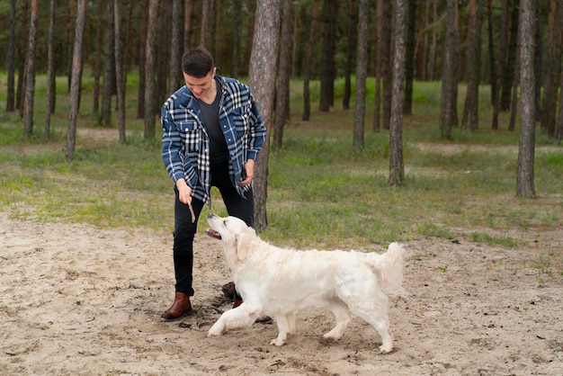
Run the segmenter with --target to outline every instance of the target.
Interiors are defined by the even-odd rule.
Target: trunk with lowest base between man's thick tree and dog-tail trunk
[[[356,58],[356,107],[353,116],[353,148],[363,148],[365,85],[368,78],[368,0],[358,3],[358,58]]]

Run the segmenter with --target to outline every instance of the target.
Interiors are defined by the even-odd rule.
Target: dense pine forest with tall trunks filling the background
[[[124,91],[131,76],[139,79],[135,106],[144,136],[155,138],[160,104],[183,85],[183,51],[197,45],[210,49],[219,75],[247,77],[273,148],[281,147],[290,117],[291,79],[303,81],[303,121],[310,116],[309,82],[320,82],[318,110],[330,112],[335,80],[344,79],[342,105],[354,103],[354,147],[364,146],[366,118],[373,130],[390,130],[390,170],[398,172],[390,184],[402,179],[400,122],[413,115],[415,82],[441,82],[443,139],[454,127],[496,130],[500,112],[511,113],[508,127],[515,130],[519,113],[521,143],[527,144],[521,160],[529,165],[524,175],[533,162],[536,126],[553,143],[563,138],[563,6],[556,0],[11,0],[0,4],[0,25],[5,111],[20,112],[26,135],[33,133],[34,106],[43,105],[33,103],[35,76],[48,76],[48,113],[60,100],[54,77],[67,76],[68,158],[81,107],[107,126],[117,108],[125,141]],[[80,101],[85,75],[94,78],[93,103]],[[369,76],[376,90],[368,98]],[[490,88],[491,119],[479,116],[483,86]],[[369,116],[366,101],[375,107]],[[49,116],[44,134],[49,139]],[[521,193],[533,196],[533,188]]]

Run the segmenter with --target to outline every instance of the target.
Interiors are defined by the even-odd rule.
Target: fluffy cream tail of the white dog
[[[407,296],[403,288],[403,255],[405,249],[398,243],[389,244],[387,252],[379,255],[370,268],[380,279],[383,292],[391,296]]]

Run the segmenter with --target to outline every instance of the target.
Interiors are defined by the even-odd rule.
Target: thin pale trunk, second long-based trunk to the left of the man
[[[127,81],[123,71],[123,43],[121,37],[121,10],[120,0],[113,0],[113,15],[115,24],[115,81],[117,82],[117,117],[120,131],[120,142],[125,143],[125,82]]]

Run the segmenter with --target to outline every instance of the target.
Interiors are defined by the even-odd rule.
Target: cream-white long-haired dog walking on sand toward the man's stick
[[[225,259],[243,303],[229,309],[210,327],[208,336],[248,327],[263,314],[275,318],[281,346],[295,334],[295,310],[329,309],[336,325],[324,335],[338,340],[352,315],[381,336],[381,353],[393,349],[389,330],[389,296],[406,295],[402,287],[404,248],[391,243],[382,255],[356,251],[298,251],[270,245],[236,217],[208,216],[210,237],[220,239]]]

